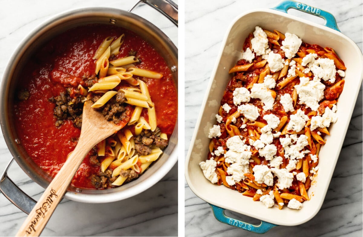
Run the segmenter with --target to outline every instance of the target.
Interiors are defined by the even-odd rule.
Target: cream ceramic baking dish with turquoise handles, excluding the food
[[[301,3],[285,1],[274,9],[259,9],[243,13],[232,22],[224,37],[187,154],[185,178],[191,190],[211,204],[217,220],[226,224],[256,233],[264,233],[276,225],[302,224],[313,218],[322,206],[362,82],[362,53],[351,39],[340,33],[334,17],[330,13],[308,7],[302,9]],[[288,15],[287,9],[289,8],[323,17],[326,25],[318,25]],[[344,90],[337,104],[338,121],[330,126],[331,136],[326,137],[327,142],[319,153],[319,171],[308,190],[311,199],[303,203],[301,210],[286,207],[281,210],[276,207],[266,208],[262,202],[254,202],[252,198],[243,196],[224,185],[211,184],[199,167],[199,162],[204,161],[207,157],[210,140],[207,137],[208,131],[216,122],[215,115],[220,108],[223,92],[232,77],[228,71],[241,59],[240,51],[244,40],[256,26],[270,31],[276,29],[283,33],[294,33],[301,37],[303,42],[331,47],[347,67]],[[256,226],[229,218],[224,215],[225,209],[257,218],[262,222]]]

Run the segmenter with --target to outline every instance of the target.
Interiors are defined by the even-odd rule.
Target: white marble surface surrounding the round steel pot
[[[177,2],[177,1],[175,1]],[[128,11],[136,3],[130,1],[0,1],[0,78],[17,45],[34,28],[53,16],[84,7],[113,7]],[[178,28],[154,9],[143,5],[133,13],[162,29],[178,45]],[[0,136],[0,172],[11,154]],[[43,188],[34,183],[13,162],[9,176],[26,193],[37,200]],[[158,183],[123,201],[85,204],[63,200],[41,236],[177,236],[178,235],[178,163]],[[0,193],[0,236],[14,236],[26,214]]]

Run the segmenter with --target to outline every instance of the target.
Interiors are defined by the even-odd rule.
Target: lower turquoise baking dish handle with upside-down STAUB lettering
[[[219,220],[220,222],[222,222],[224,224],[232,225],[232,226],[244,229],[244,230],[248,230],[253,233],[264,234],[264,233],[268,232],[270,229],[277,226],[275,224],[271,224],[271,223],[265,222],[265,221],[261,221],[260,225],[248,224],[246,222],[239,221],[237,219],[226,216],[224,214],[225,209],[223,209],[223,208],[220,208],[220,207],[212,205],[212,204],[209,204],[209,205],[211,205],[211,207],[212,207],[215,218],[217,220]]]

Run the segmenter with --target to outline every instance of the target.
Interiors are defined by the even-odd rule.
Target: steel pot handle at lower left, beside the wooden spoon
[[[37,202],[28,194],[24,193],[23,190],[16,186],[16,184],[9,178],[8,169],[13,161],[14,158],[11,159],[4,173],[1,175],[0,191],[20,210],[29,214]]]

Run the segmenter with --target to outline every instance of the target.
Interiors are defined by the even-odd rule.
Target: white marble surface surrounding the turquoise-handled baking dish
[[[221,41],[232,20],[244,11],[272,8],[280,0],[187,1],[185,3],[185,155],[205,95]],[[332,13],[340,31],[362,51],[362,0],[303,3]],[[290,14],[320,24],[324,20],[290,10]],[[258,220],[237,213],[232,217],[252,224]],[[185,236],[257,236],[218,222],[211,207],[185,182]],[[266,236],[359,236],[362,237],[362,86],[334,170],[325,201],[318,214],[298,226],[277,226]]]

